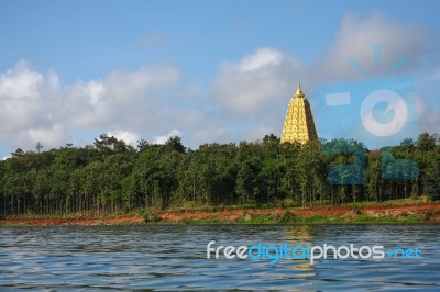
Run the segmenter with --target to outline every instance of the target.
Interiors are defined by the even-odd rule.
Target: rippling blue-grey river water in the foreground
[[[0,235],[2,291],[440,291],[439,225],[32,226],[0,227]],[[212,248],[417,247],[421,258],[207,259],[210,240]]]

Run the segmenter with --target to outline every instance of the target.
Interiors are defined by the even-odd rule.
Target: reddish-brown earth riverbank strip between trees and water
[[[220,211],[165,211],[131,215],[16,216],[0,218],[8,226],[160,225],[160,224],[355,224],[440,223],[440,203],[366,206],[274,207]]]

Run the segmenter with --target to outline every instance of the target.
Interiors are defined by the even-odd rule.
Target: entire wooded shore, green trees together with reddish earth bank
[[[437,134],[376,150],[343,138],[280,144],[273,134],[195,150],[177,136],[133,147],[106,134],[43,147],[0,161],[0,224],[439,222]]]

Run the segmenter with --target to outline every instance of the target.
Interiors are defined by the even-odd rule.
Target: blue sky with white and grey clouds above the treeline
[[[403,76],[420,132],[439,133],[438,11],[435,0],[3,0],[0,156],[102,133],[133,145],[179,135],[191,148],[279,136],[299,82],[318,135],[350,137],[343,116],[322,121],[317,89]]]

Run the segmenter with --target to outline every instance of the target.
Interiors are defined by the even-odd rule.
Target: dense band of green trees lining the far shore
[[[16,149],[0,162],[0,214],[122,213],[200,206],[308,206],[427,194],[439,199],[438,135],[369,151],[356,141],[279,144],[278,137],[187,149],[179,137],[136,148]]]

